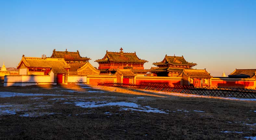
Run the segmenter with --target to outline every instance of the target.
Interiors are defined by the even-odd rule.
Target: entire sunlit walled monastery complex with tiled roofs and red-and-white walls
[[[209,72],[193,69],[196,63],[186,61],[183,56],[165,55],[155,67],[144,69],[147,60],[141,59],[136,52],[126,53],[106,51],[105,56],[95,60],[98,68],[93,67],[91,58],[81,57],[79,51],[53,50],[51,57],[21,57],[17,72],[7,71],[5,65],[0,70],[4,86],[26,86],[37,84],[85,83],[97,85],[99,82],[118,83],[163,83],[168,85],[219,86],[256,88],[256,69],[234,70],[228,77],[212,77]]]

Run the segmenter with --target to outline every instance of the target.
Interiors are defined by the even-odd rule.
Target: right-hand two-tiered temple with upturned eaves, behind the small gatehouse
[[[153,63],[157,66],[150,69],[153,76],[169,76],[177,77],[183,69],[191,69],[191,67],[196,66],[196,63],[187,62],[184,57],[176,57],[165,55],[161,62]]]

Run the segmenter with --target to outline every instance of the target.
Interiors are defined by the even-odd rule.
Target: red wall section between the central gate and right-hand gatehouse
[[[181,80],[139,80],[136,79],[136,84],[140,83],[159,83],[159,84],[168,84],[170,86],[180,85]]]

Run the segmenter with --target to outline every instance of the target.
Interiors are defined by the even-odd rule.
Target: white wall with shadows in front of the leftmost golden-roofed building
[[[4,86],[27,86],[38,84],[56,84],[54,83],[54,73],[49,75],[8,75],[5,76]]]

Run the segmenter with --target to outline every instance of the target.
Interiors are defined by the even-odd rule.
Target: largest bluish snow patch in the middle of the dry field
[[[138,104],[130,103],[130,102],[66,102],[65,104],[74,104],[75,106],[79,106],[82,108],[97,108],[104,106],[121,106],[121,107],[129,107],[129,108],[120,108],[121,110],[133,110],[133,111],[143,111],[143,112],[153,112],[153,113],[167,113],[165,111],[161,111],[157,108],[151,108],[150,106],[141,107]]]

